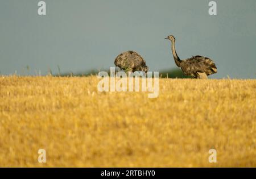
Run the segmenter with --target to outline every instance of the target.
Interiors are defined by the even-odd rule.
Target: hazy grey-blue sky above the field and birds
[[[47,74],[109,69],[134,50],[151,71],[175,68],[167,35],[181,59],[213,59],[212,78],[256,78],[256,1],[0,0],[0,74]],[[26,66],[29,66],[29,73]]]

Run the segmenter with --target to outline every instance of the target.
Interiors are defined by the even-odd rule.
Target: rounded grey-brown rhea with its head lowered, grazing
[[[126,51],[115,58],[115,66],[126,72],[143,71],[147,73],[146,61],[134,51]]]

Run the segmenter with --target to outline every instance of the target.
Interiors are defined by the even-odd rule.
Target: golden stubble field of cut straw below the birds
[[[256,80],[159,79],[158,98],[98,81],[0,77],[0,166],[256,166]]]

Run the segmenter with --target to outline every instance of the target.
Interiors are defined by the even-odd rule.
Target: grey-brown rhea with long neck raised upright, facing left
[[[172,55],[177,66],[181,68],[185,75],[192,76],[194,78],[204,78],[210,74],[217,73],[216,65],[208,57],[200,55],[192,56],[190,59],[180,60],[175,50],[175,38],[169,35],[167,38],[172,42]]]

